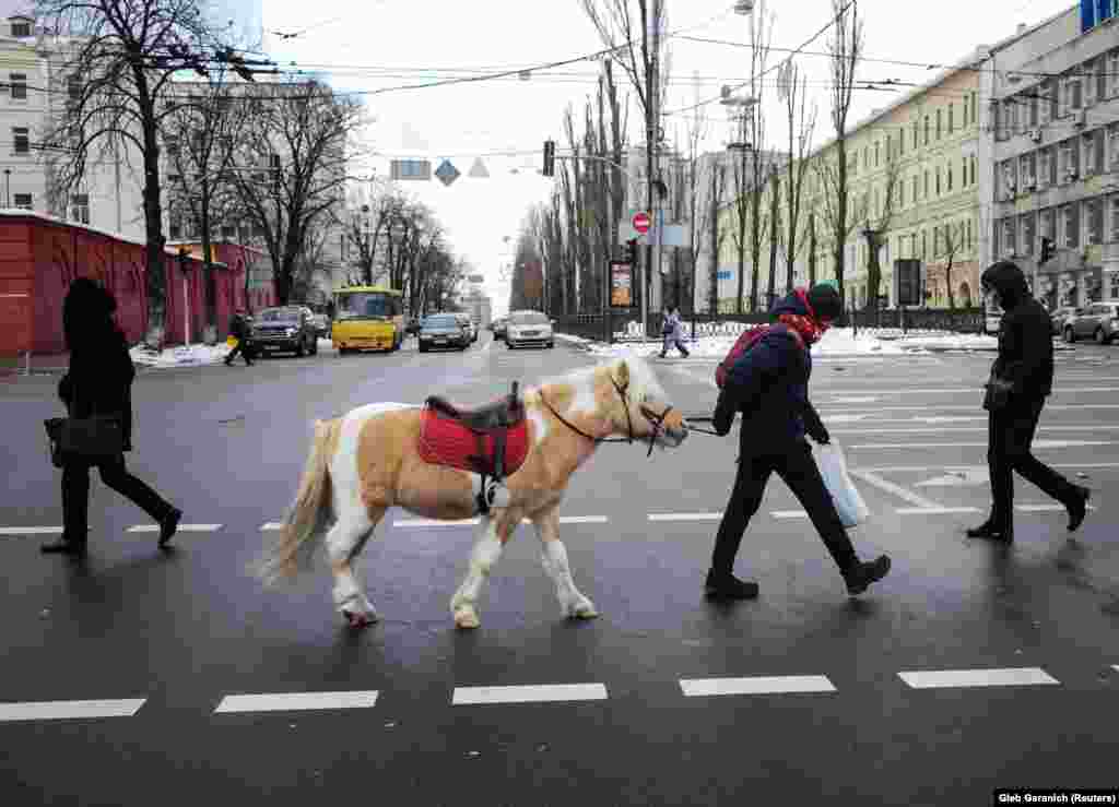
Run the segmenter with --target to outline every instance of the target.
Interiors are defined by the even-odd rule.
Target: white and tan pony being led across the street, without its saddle
[[[608,437],[645,440],[651,452],[653,445],[679,446],[688,434],[684,417],[640,359],[575,371],[527,389],[523,401],[528,453],[506,480],[507,506],[481,518],[470,569],[451,599],[460,628],[480,625],[482,581],[524,519],[536,529],[563,615],[596,617],[594,604],[575,587],[560,540],[558,507],[567,483]],[[258,569],[265,580],[293,577],[325,537],[335,605],[351,627],[364,627],[376,621],[377,614],[358,582],[355,561],[389,507],[439,520],[478,514],[476,475],[420,457],[422,411],[408,404],[370,404],[316,423],[295,502]]]

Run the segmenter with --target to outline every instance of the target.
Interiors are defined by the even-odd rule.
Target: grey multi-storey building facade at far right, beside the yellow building
[[[1085,8],[1087,7],[1087,8]],[[1119,23],[1083,2],[993,49],[989,259],[1050,308],[1119,301]],[[1041,263],[1042,239],[1055,246]]]

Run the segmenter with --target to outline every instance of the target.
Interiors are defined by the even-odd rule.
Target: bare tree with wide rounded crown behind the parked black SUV
[[[303,238],[342,202],[350,139],[363,123],[354,101],[318,82],[261,85],[238,171],[245,215],[263,232],[276,296],[286,304]]]

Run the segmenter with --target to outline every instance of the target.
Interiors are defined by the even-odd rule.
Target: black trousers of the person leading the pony
[[[750,524],[750,519],[761,506],[765,484],[770,474],[774,472],[805,507],[839,570],[844,571],[858,562],[855,548],[847,538],[847,530],[844,529],[835,502],[831,501],[831,494],[824,485],[820,469],[816,467],[812,449],[807,440],[800,439],[790,442],[781,449],[767,449],[765,453],[752,456],[743,453],[739,458],[734,492],[723,512],[723,520],[715,538],[712,569],[716,573],[733,571],[734,557],[739,552],[739,544],[742,543],[742,535]]]

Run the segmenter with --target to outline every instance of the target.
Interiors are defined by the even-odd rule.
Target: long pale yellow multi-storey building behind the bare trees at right
[[[888,306],[897,303],[893,278],[893,262],[897,258],[922,262],[930,307],[949,306],[949,287],[956,307],[978,304],[979,245],[985,228],[979,199],[979,70],[975,68],[984,58],[986,51],[977,51],[960,66],[942,72],[848,129],[848,229],[844,250],[848,306],[866,305],[871,294],[867,230],[876,232],[882,269],[878,294],[886,297]],[[827,121],[826,115],[820,115],[818,125],[827,125]],[[815,219],[817,235],[816,279],[834,278],[836,274],[835,228],[830,224],[835,193],[828,190],[834,179],[828,178],[835,177],[837,152],[830,140],[806,158],[809,167],[793,265],[794,285],[809,281],[810,219]],[[789,171],[787,165],[779,174],[782,186]],[[787,229],[786,189],[781,187],[779,192],[782,227]],[[768,209],[764,200],[762,206]],[[724,215],[721,227],[733,225],[733,212]],[[724,240],[721,264],[734,259],[730,240]],[[761,301],[769,282],[769,255],[767,238],[759,278]],[[778,294],[786,291],[786,278],[784,262],[779,257]]]

